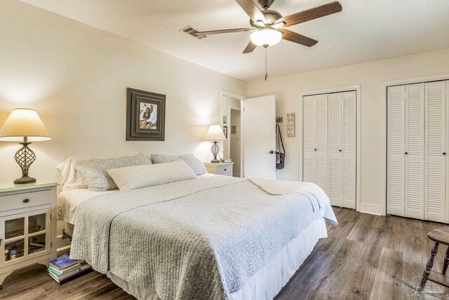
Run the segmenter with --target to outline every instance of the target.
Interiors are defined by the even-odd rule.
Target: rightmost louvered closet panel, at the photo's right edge
[[[445,211],[446,85],[449,81],[426,84],[426,160],[424,218],[447,222]]]

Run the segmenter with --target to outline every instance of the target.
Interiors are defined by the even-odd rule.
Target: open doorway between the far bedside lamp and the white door
[[[243,97],[222,92],[222,128],[227,136],[223,141],[223,158],[231,159],[232,176],[243,177]]]

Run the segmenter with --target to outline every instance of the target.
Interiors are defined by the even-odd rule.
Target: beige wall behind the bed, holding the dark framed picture
[[[166,94],[166,141],[126,142],[126,88]],[[246,94],[246,82],[88,27],[20,1],[0,1],[0,124],[15,107],[39,112],[53,140],[31,145],[30,175],[58,179],[69,155],[193,152],[220,124],[221,91]],[[0,142],[0,182],[20,176],[17,143]]]

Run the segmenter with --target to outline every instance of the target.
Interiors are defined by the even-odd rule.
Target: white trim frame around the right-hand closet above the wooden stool
[[[424,76],[424,77],[415,77],[415,78],[409,78],[409,79],[397,79],[397,80],[389,80],[384,81],[384,103],[385,103],[385,121],[387,124],[388,122],[388,93],[387,89],[389,86],[400,86],[400,85],[407,85],[407,84],[419,84],[419,83],[425,83],[425,82],[431,82],[431,81],[449,81],[449,73],[448,74],[440,74],[440,75],[432,75],[432,76]],[[449,83],[446,84],[446,91],[449,89]],[[446,93],[446,99],[449,101],[449,93]],[[448,102],[446,102],[448,103]],[[449,105],[446,105],[446,122],[449,122]],[[448,123],[449,124],[449,123]],[[385,201],[383,202],[383,209],[382,209],[382,215],[387,214],[387,157],[388,157],[388,151],[387,151],[387,137],[388,137],[388,128],[385,129],[385,167],[384,167],[384,173],[385,176],[385,185],[384,185],[384,195],[385,195]],[[449,130],[446,131],[446,150],[449,151]],[[449,154],[449,153],[448,153]],[[446,168],[445,168],[445,181],[446,181],[446,195],[445,195],[445,203],[446,208],[449,207],[449,163],[447,161],[448,158],[446,158]],[[446,209],[445,214],[445,223],[449,223],[449,209]]]

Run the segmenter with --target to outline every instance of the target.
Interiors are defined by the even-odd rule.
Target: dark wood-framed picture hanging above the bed
[[[126,141],[165,141],[166,96],[127,89]]]

